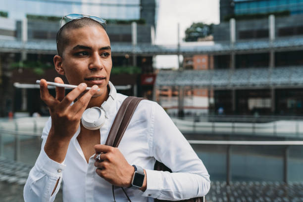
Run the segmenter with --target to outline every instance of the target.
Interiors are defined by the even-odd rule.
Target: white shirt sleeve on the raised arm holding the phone
[[[53,202],[60,188],[62,171],[65,168],[64,161],[63,163],[55,162],[44,151],[50,126],[51,119],[43,129],[41,151],[24,186],[25,202]]]

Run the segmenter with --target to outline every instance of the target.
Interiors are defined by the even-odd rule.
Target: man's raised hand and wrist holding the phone
[[[59,77],[55,78],[55,82],[63,83]],[[98,91],[98,86],[93,86],[91,90],[84,93],[80,99],[71,105],[72,101],[79,98],[86,87],[87,85],[82,83],[65,97],[64,88],[56,87],[56,97],[54,98],[49,93],[46,80],[41,79],[41,99],[49,106],[51,116],[50,133],[44,150],[56,162],[63,162],[70,139],[79,127],[82,114],[92,96]]]

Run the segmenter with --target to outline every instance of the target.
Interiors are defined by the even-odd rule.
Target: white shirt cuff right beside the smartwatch
[[[156,199],[159,197],[163,187],[161,171],[147,170],[147,169],[145,169],[145,171],[146,171],[146,179],[147,179],[147,188],[145,192],[143,192],[142,196],[152,197]]]

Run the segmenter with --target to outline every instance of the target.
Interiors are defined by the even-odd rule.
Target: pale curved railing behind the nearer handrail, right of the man
[[[183,133],[303,138],[302,116],[186,116],[172,117]]]

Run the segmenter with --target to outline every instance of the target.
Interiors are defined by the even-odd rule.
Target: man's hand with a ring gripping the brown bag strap
[[[114,186],[130,187],[135,168],[126,161],[119,149],[95,145],[95,151],[97,154],[102,152],[101,162],[96,161],[94,164],[96,173]]]

